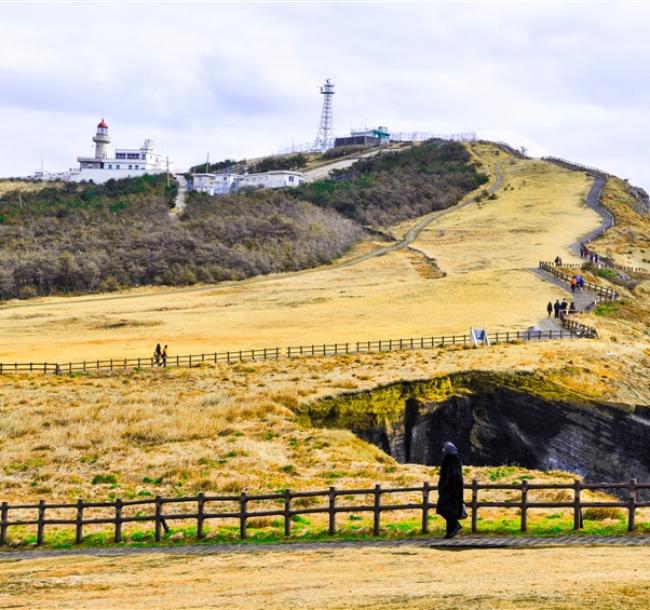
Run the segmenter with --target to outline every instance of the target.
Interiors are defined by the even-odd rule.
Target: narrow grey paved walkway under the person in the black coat
[[[650,536],[582,536],[567,535],[552,538],[519,536],[460,536],[453,540],[444,538],[404,538],[401,540],[332,540],[323,542],[280,542],[277,544],[187,544],[178,546],[98,547],[78,549],[34,549],[0,552],[0,561],[42,559],[46,557],[122,557],[129,555],[227,555],[231,553],[291,553],[294,551],[320,551],[327,549],[420,547],[432,549],[494,549],[542,548],[565,546],[648,546]]]

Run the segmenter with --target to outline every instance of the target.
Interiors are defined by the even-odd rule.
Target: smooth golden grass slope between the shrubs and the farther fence
[[[497,150],[477,144],[473,154],[493,178],[499,163],[498,198],[442,214],[414,244],[446,277],[400,250],[212,287],[11,302],[0,308],[0,361],[148,356],[159,341],[182,354],[535,324],[564,293],[527,269],[556,254],[569,260],[567,246],[598,216],[583,204],[583,174]]]

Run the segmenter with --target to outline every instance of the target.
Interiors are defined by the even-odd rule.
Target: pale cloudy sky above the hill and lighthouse
[[[0,1],[0,176],[112,144],[185,169],[334,132],[476,132],[650,190],[650,3]]]

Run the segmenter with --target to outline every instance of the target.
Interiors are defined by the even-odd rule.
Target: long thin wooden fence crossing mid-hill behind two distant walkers
[[[513,341],[548,341],[572,339],[581,336],[571,329],[564,330],[511,330],[488,335],[490,343],[510,343]],[[194,367],[202,364],[256,362],[260,360],[279,360],[280,358],[300,358],[306,356],[337,356],[342,354],[369,354],[415,349],[434,349],[446,346],[471,346],[471,336],[438,335],[430,337],[410,337],[408,339],[379,339],[349,343],[321,343],[289,347],[264,347],[204,354],[169,356],[167,367]],[[108,360],[84,360],[81,362],[0,362],[2,373],[52,373],[72,374],[92,371],[118,371],[143,369],[159,366],[152,357],[111,358]]]

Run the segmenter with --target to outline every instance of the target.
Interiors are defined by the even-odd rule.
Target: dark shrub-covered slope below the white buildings
[[[448,207],[484,181],[458,144],[417,148],[359,162],[358,178],[318,182],[314,189],[330,189],[325,199],[312,197],[316,190],[192,193],[180,217],[168,213],[176,187],[164,176],[40,190],[5,185],[0,299],[220,282],[327,263],[363,237],[359,223]],[[345,213],[340,201],[348,196],[364,211]]]

